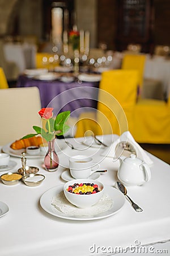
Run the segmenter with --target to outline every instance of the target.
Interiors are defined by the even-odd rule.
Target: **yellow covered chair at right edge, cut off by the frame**
[[[170,144],[170,95],[168,102],[140,99],[134,108],[133,137],[139,143]]]

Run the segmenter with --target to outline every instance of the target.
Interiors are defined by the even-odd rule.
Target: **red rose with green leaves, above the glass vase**
[[[39,111],[39,115],[42,119],[46,120],[45,129],[39,126],[33,126],[36,134],[25,135],[22,139],[27,139],[41,134],[47,142],[56,138],[56,136],[63,135],[70,129],[66,125],[67,119],[70,117],[70,111],[61,112],[57,117],[53,118],[53,108],[42,108]]]

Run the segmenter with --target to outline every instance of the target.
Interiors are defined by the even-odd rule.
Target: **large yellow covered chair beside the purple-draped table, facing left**
[[[97,111],[82,113],[75,137],[94,133],[122,134],[133,129],[133,109],[137,100],[138,71],[103,72],[99,85]]]

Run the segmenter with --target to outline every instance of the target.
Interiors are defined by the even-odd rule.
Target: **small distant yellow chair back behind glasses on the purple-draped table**
[[[36,53],[36,68],[54,69],[58,66],[58,61],[54,60],[54,54],[48,52]]]

